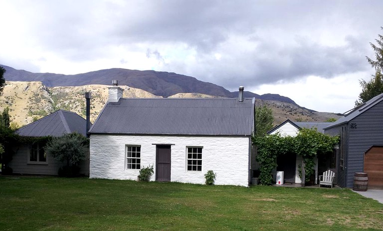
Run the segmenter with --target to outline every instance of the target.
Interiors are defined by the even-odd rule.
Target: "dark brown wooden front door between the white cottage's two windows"
[[[171,146],[157,145],[156,180],[170,181],[171,170]]]

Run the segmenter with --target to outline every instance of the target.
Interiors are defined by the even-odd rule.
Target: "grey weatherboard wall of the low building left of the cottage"
[[[35,174],[35,175],[57,175],[58,169],[64,166],[65,163],[56,161],[52,156],[47,157],[47,163],[44,164],[28,164],[29,145],[23,145],[14,148],[12,161],[9,162],[9,167],[13,169],[15,174]],[[85,161],[80,164],[80,173],[89,176],[89,151]]]

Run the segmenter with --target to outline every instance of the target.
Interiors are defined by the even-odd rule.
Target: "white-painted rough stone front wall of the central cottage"
[[[174,144],[171,146],[171,181],[204,184],[204,174],[208,170],[213,170],[216,173],[216,185],[248,186],[249,139],[249,137],[92,134],[90,178],[136,180],[139,170],[126,169],[126,145],[140,145],[141,167],[153,164],[156,168],[155,144]],[[188,146],[203,147],[201,172],[187,171]],[[155,179],[154,174],[151,180]]]

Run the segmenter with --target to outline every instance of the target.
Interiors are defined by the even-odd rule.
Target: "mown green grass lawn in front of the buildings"
[[[348,189],[0,177],[0,230],[383,230]]]

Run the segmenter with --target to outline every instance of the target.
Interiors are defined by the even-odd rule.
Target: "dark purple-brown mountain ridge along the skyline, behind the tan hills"
[[[235,98],[238,95],[237,91],[230,92],[216,84],[203,82],[194,77],[173,72],[112,68],[82,74],[64,75],[32,73],[25,70],[16,70],[5,65],[0,66],[3,66],[6,70],[4,78],[7,81],[40,81],[47,87],[82,86],[90,84],[109,85],[112,83],[112,80],[119,80],[120,85],[143,89],[162,97],[169,97],[178,93],[199,93],[227,98]],[[278,94],[258,95],[245,91],[245,96],[295,104],[292,99]]]

